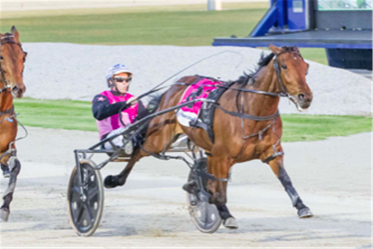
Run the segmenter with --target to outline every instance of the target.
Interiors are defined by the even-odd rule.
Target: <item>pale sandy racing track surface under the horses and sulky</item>
[[[145,158],[122,188],[106,190],[94,236],[78,237],[67,216],[73,149],[95,132],[28,128],[19,141],[22,170],[1,247],[354,247],[371,248],[372,133],[284,143],[285,167],[314,218],[299,220],[269,167],[235,165],[228,207],[240,228],[198,232],[181,190],[188,169],[179,161]],[[113,163],[103,177],[119,172]],[[1,179],[1,194],[7,181]]]

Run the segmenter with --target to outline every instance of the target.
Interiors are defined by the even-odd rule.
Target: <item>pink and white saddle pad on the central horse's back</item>
[[[178,105],[196,99],[207,98],[210,92],[215,90],[217,85],[220,84],[223,84],[223,82],[215,81],[209,78],[200,78],[185,89]],[[190,126],[190,122],[193,123],[198,119],[201,107],[202,102],[196,102],[194,104],[182,107],[176,114],[177,121],[184,126]]]

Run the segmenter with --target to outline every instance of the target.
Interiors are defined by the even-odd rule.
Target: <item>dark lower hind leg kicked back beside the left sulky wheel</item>
[[[133,166],[140,158],[140,149],[137,148],[133,152],[131,159],[125,166],[124,170],[119,175],[108,175],[107,177],[105,177],[104,186],[106,188],[115,188],[117,186],[123,186]]]

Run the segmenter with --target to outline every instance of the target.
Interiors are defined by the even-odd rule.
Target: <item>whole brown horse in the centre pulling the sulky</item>
[[[135,150],[121,174],[108,176],[105,186],[123,185],[137,160],[149,154],[162,153],[178,134],[184,133],[208,155],[208,172],[216,178],[210,179],[207,184],[211,194],[210,203],[217,206],[226,227],[238,227],[226,207],[226,179],[230,168],[235,163],[253,159],[269,164],[300,218],[312,217],[284,169],[280,142],[282,122],[277,112],[280,96],[288,97],[300,111],[310,106],[312,92],[305,78],[309,65],[296,47],[278,48],[271,45],[270,49],[270,55],[261,57],[258,70],[242,76],[217,102],[219,108],[215,109],[213,121],[214,142],[205,129],[179,124],[174,112],[158,116],[149,123],[142,149]],[[183,77],[179,84],[172,85],[162,96],[157,111],[176,106],[188,84],[197,78]]]

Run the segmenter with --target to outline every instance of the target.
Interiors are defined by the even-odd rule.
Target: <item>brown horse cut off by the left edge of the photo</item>
[[[7,221],[9,204],[21,164],[16,157],[14,142],[17,135],[17,120],[13,98],[22,98],[26,87],[23,85],[23,68],[27,53],[19,42],[19,33],[13,26],[10,33],[0,34],[0,163],[4,177],[9,184],[4,192],[0,218]]]

